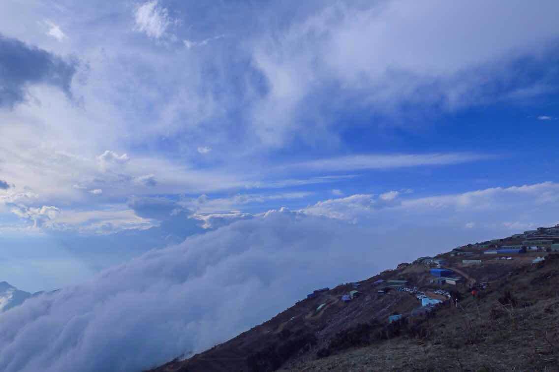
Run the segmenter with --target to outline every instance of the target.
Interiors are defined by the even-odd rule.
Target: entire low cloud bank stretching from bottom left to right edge
[[[0,369],[140,370],[202,351],[317,287],[532,228],[523,211],[537,209],[542,224],[556,222],[559,185],[400,197],[353,195],[269,211],[31,299],[0,315]],[[155,203],[164,214],[174,208],[162,200],[134,203]],[[472,231],[472,220],[481,228]]]

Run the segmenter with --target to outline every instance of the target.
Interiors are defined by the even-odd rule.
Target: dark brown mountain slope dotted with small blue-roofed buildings
[[[533,236],[538,237],[537,233]],[[516,335],[506,333],[507,324],[499,323],[498,319],[506,319],[507,316],[509,320],[513,319],[520,324],[518,333],[527,337],[540,336],[531,330],[532,324],[523,323],[521,318],[527,311],[525,309],[542,314],[548,324],[559,326],[555,310],[549,312],[549,309],[559,305],[559,293],[553,289],[559,285],[559,255],[548,252],[551,246],[534,248],[535,245],[529,244],[529,237],[524,234],[467,244],[434,257],[401,263],[396,269],[382,271],[359,282],[341,284],[328,291],[315,291],[276,317],[229,341],[151,371],[448,370],[465,369],[468,363],[474,369],[494,370],[494,366],[498,365],[495,356],[478,355],[470,349],[472,345],[485,345],[484,342],[490,342],[487,340],[497,334],[505,340],[503,345],[507,345],[506,340],[515,339]],[[515,249],[518,252],[513,252]],[[437,270],[444,271],[445,268],[452,270],[453,277],[443,278],[442,282],[443,279],[433,273],[436,275]],[[397,290],[397,280],[405,280],[404,288],[409,291]],[[389,284],[391,281],[394,284]],[[546,287],[538,288],[538,283],[542,282],[547,283]],[[446,295],[441,295],[441,291]],[[344,297],[350,294],[351,298]],[[421,301],[423,297],[440,303],[424,307],[418,303],[418,299]],[[479,316],[476,311],[480,312]],[[401,314],[402,319],[389,324],[389,317],[393,314]],[[482,341],[478,340],[482,336],[475,332],[461,337],[460,332],[469,329],[464,325],[464,317],[470,317],[472,323],[479,323],[483,329],[494,328],[495,335],[483,336],[486,338]],[[441,318],[448,319],[448,322],[440,322]],[[538,324],[547,327],[546,322]],[[471,333],[471,329],[468,332]],[[551,343],[542,341],[545,345],[559,341],[557,332],[546,337]],[[439,338],[444,341],[441,343]],[[399,349],[391,340],[398,340],[409,350],[424,351],[410,357],[405,355],[408,349]],[[491,347],[500,348],[503,345],[491,343]],[[449,352],[456,354],[455,346],[456,350],[464,349],[470,361],[442,356]],[[544,349],[547,353],[544,356],[547,357],[532,355],[532,365],[559,367],[556,351],[548,350],[547,346]],[[385,359],[392,359],[392,362],[372,357],[379,352],[384,352]],[[510,355],[510,360],[499,362],[518,369],[522,361],[515,355],[522,355],[525,346],[515,352],[517,354]],[[506,348],[503,353],[507,354]],[[406,364],[391,355],[400,355],[401,361],[415,362]],[[480,359],[478,356],[481,355],[485,355],[489,362]],[[430,359],[426,360],[423,356]],[[357,359],[359,362],[356,362]],[[437,359],[444,368],[437,369],[437,363],[433,364],[432,361]],[[523,365],[524,368],[529,366]]]

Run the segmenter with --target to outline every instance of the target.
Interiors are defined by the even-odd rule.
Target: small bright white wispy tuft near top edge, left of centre
[[[135,30],[144,32],[149,37],[160,39],[176,20],[169,17],[167,8],[158,6],[158,0],[141,4],[134,13]]]

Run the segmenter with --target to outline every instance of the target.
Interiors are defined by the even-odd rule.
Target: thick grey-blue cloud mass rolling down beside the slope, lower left
[[[286,210],[237,222],[2,314],[0,369],[144,370],[235,336],[307,291],[401,258],[372,252],[358,229]]]

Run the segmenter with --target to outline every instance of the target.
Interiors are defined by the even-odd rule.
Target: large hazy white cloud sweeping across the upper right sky
[[[325,6],[255,42],[253,59],[269,91],[254,106],[253,130],[272,146],[288,142],[293,133],[328,139],[329,126],[339,121],[333,123],[309,104],[331,84],[340,87],[340,106],[356,92],[358,109],[392,118],[405,118],[400,108],[406,103],[453,111],[505,98],[495,96],[491,84],[518,74],[511,60],[539,58],[553,44],[559,29],[552,15],[558,11],[553,1],[538,8],[518,1],[443,0]],[[513,93],[523,91],[520,99],[541,94],[538,83]],[[343,92],[349,92],[349,100]],[[336,104],[336,97],[326,100]]]

